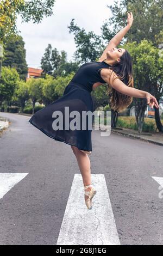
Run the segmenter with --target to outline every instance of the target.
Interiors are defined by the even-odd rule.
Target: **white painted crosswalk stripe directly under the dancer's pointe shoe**
[[[57,245],[120,245],[104,174],[91,174],[91,179],[97,193],[89,210],[82,175],[74,175]]]

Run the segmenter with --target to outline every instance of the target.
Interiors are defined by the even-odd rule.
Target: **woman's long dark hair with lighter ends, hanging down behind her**
[[[119,78],[128,87],[134,87],[133,63],[129,52],[126,50],[120,59],[120,62],[115,63],[109,67],[109,69],[115,72],[115,78],[113,78],[112,81],[114,81],[116,78]],[[118,92],[112,88],[109,83],[106,90],[106,95],[110,95],[111,109],[117,111],[118,113],[124,111],[124,109],[126,109],[133,101],[133,96],[124,95]]]

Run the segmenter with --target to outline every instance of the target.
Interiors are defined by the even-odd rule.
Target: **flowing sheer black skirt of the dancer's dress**
[[[86,130],[69,130],[65,129],[67,123],[65,120],[65,107],[69,107],[69,113],[78,111],[80,113],[80,128],[82,127],[82,111],[94,111],[93,101],[90,89],[82,84],[70,82],[64,94],[58,99],[40,109],[29,119],[29,123],[34,125],[37,129],[45,133],[47,136],[56,141],[64,142],[66,144],[77,147],[80,150],[92,151],[91,132],[86,123]],[[68,109],[68,108],[67,108]],[[54,130],[53,122],[58,116],[54,117],[55,111],[61,111],[63,115],[63,130]],[[56,112],[57,113],[57,112]],[[74,117],[76,117],[74,115]],[[73,118],[69,118],[68,125]],[[86,119],[88,121],[88,118]],[[93,123],[93,116],[92,116]]]

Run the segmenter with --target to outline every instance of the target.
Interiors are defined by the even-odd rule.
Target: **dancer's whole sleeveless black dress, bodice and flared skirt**
[[[64,94],[58,100],[35,112],[29,119],[29,122],[56,141],[76,146],[80,150],[92,151],[92,130],[87,129],[87,125],[86,130],[66,130],[65,124],[63,124],[63,130],[54,130],[52,124],[58,116],[54,117],[53,113],[61,111],[63,117],[65,117],[65,107],[69,107],[69,113],[71,111],[78,111],[81,113],[81,116],[82,111],[95,111],[91,97],[92,86],[96,82],[105,83],[99,69],[108,68],[109,66],[104,61],[84,63],[65,87]],[[68,120],[69,124],[71,120],[71,118]]]

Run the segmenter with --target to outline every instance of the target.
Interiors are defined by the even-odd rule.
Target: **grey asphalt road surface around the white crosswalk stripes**
[[[29,173],[0,199],[1,245],[56,245],[75,173],[70,145],[49,138],[24,115],[1,112],[0,173]],[[92,174],[104,174],[121,245],[163,244],[162,147],[92,131]],[[163,194],[163,193],[162,193]]]

